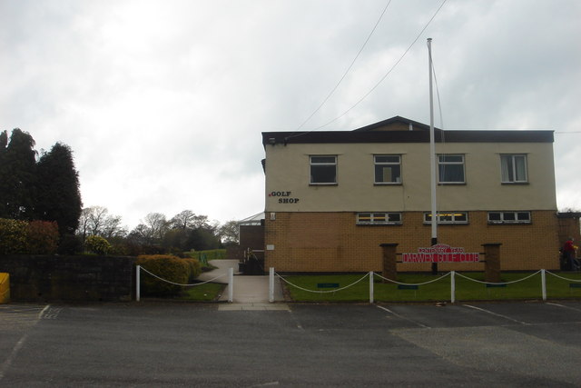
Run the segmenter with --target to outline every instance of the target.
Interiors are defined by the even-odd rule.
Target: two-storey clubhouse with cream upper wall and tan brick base
[[[552,131],[436,129],[438,243],[503,270],[556,269]],[[265,268],[381,270],[379,244],[430,245],[429,127],[399,116],[354,131],[266,132]],[[428,271],[430,264],[398,264]],[[483,264],[440,264],[481,270]]]

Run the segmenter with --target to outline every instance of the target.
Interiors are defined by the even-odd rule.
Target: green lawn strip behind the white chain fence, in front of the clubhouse
[[[460,273],[462,274],[462,273]],[[514,282],[527,278],[533,273],[504,273],[501,276],[502,282]],[[484,281],[483,273],[462,274],[470,279]],[[580,273],[560,273],[556,275],[566,279],[557,278],[553,274],[547,273],[547,298],[581,298],[581,288],[571,287],[581,281]],[[284,278],[291,284],[312,290],[324,291],[325,293],[311,293],[282,282],[287,287],[291,299],[296,302],[367,302],[369,301],[369,277],[361,280],[364,274],[335,274],[335,275],[291,275]],[[439,279],[430,284],[422,284]],[[567,280],[567,279],[572,279]],[[399,287],[398,284],[382,283],[378,276],[374,279],[374,300],[376,302],[431,302],[450,300],[450,276],[438,276],[431,274],[399,274],[398,282],[404,284],[422,284],[417,289],[409,287]],[[318,284],[339,284],[339,291],[333,288],[318,288]],[[345,290],[340,290],[345,286],[353,284]],[[401,289],[404,288],[404,289]],[[456,275],[456,300],[510,300],[510,299],[541,299],[541,274],[517,282],[507,284],[502,287],[487,287]]]

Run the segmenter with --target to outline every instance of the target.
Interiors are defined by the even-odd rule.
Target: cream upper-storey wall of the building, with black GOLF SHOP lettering
[[[267,144],[266,210],[429,211],[428,148],[425,143]],[[449,143],[436,144],[436,152],[465,154],[466,184],[438,185],[439,210],[556,210],[552,144]],[[311,154],[338,156],[337,185],[309,184]],[[401,154],[402,184],[374,185],[373,154]],[[499,154],[527,154],[528,184],[500,183]],[[281,198],[291,203],[281,204]]]

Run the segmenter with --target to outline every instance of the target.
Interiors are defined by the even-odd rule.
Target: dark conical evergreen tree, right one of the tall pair
[[[38,161],[37,173],[36,217],[56,221],[61,236],[74,234],[83,203],[79,174],[74,168],[73,152],[69,146],[54,144],[50,152],[43,154]]]

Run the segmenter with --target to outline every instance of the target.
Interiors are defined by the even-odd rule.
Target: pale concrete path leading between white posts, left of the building
[[[241,306],[231,306],[233,310],[271,310],[274,306],[269,306],[269,276],[246,276],[238,273],[238,260],[212,260],[210,264],[217,269],[201,274],[197,280],[207,282],[211,279],[214,283],[228,284],[228,269],[234,269],[234,290],[233,303],[244,304]],[[228,300],[228,286],[222,293],[220,301]],[[280,279],[274,278],[274,301],[284,301]],[[224,306],[226,309],[226,306]]]

